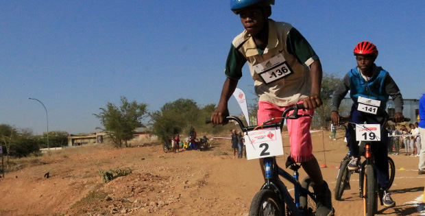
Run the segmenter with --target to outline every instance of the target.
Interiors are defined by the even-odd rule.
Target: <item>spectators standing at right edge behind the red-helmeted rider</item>
[[[388,129],[389,143],[388,152],[393,155],[400,154],[400,144],[406,152],[406,156],[420,156],[421,151],[421,137],[419,136],[418,123],[409,124],[409,128],[406,125],[402,125],[400,129],[397,129],[395,125],[391,125]]]

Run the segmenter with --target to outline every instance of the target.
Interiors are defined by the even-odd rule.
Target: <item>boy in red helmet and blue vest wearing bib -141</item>
[[[356,56],[357,67],[348,71],[343,78],[343,82],[339,84],[338,90],[332,97],[332,104],[330,106],[331,119],[335,125],[339,125],[340,116],[338,113],[341,100],[350,91],[350,97],[354,101],[351,108],[350,119],[353,123],[367,123],[380,124],[385,123],[388,116],[385,112],[389,96],[393,99],[396,114],[394,119],[396,122],[401,122],[404,119],[402,115],[403,98],[400,93],[396,82],[393,81],[391,76],[382,67],[377,67],[374,64],[378,56],[378,49],[373,43],[363,41],[356,45],[354,49],[354,56]],[[372,103],[380,104],[376,110],[365,109],[363,99],[371,101]],[[359,169],[359,142],[356,141],[354,125],[348,124],[348,146],[353,156],[348,169]],[[389,172],[388,172],[388,149],[387,149],[387,130],[381,130],[380,141],[374,145],[374,161],[378,170],[378,183],[384,191],[383,204],[386,207],[396,205],[388,193],[389,187]]]

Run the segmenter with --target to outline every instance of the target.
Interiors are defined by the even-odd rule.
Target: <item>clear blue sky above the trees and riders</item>
[[[406,99],[425,93],[425,1],[279,1],[271,19],[296,27],[326,73],[356,66],[354,46],[377,45],[378,66]],[[36,134],[94,132],[93,113],[120,96],[158,110],[180,97],[217,104],[230,43],[243,31],[230,1],[0,0],[0,123]],[[247,67],[239,82],[250,97]],[[231,99],[231,114],[239,107]]]

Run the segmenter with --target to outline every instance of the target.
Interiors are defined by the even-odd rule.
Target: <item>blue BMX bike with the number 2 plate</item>
[[[276,129],[276,140],[280,140],[280,147],[282,148],[281,153],[283,154],[280,131],[282,130],[284,119],[298,119],[300,117],[311,118],[311,115],[298,114],[298,110],[303,108],[304,106],[302,104],[291,106],[284,110],[282,117],[269,119],[265,121],[263,125],[245,127],[241,119],[234,116],[226,117],[226,120],[234,120],[239,124],[239,127],[245,134],[245,141],[249,141],[245,144],[245,147],[247,147],[247,145],[252,145],[252,141],[250,139],[252,138],[252,136],[250,136],[252,135],[252,132]],[[293,113],[288,115],[291,111],[293,111]],[[275,119],[280,119],[280,121],[278,123],[269,123]],[[261,128],[262,130],[256,130],[257,128]],[[296,164],[290,156],[288,157],[286,167],[293,170],[293,176],[291,176],[291,174],[284,171],[284,169],[280,168],[276,163],[276,154],[273,153],[274,147],[272,146],[274,143],[261,141],[261,143],[257,144],[255,152],[255,154],[258,154],[257,157],[250,158],[248,147],[247,156],[248,159],[262,158],[265,169],[265,183],[260,188],[260,191],[254,195],[250,205],[249,215],[315,215],[317,197],[315,193],[313,193],[313,182],[311,181],[311,178],[306,177],[300,183],[298,173],[298,169],[301,167],[300,165]],[[278,145],[274,146],[276,147]],[[293,197],[282,180],[280,180],[279,176],[293,184]]]

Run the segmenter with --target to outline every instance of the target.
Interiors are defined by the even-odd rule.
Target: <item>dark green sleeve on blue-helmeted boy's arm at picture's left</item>
[[[226,69],[224,70],[226,77],[232,80],[241,79],[242,68],[245,62],[247,62],[245,56],[243,56],[240,51],[236,50],[236,47],[232,44],[228,54],[228,60],[226,60]]]

